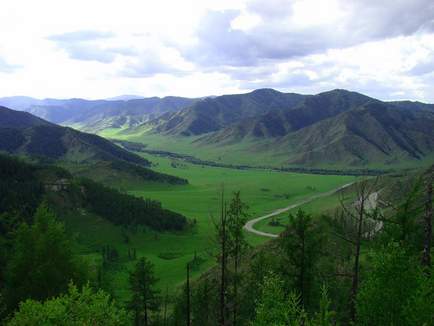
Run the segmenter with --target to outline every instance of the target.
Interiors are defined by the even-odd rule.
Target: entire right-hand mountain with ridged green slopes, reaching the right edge
[[[204,151],[225,152],[227,160],[245,157],[255,164],[267,160],[281,166],[402,168],[434,154],[434,113],[429,108],[396,107],[334,90],[292,109],[245,118],[193,144]],[[260,157],[264,159],[258,160]]]

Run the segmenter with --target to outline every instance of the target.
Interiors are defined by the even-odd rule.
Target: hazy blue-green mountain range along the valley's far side
[[[252,156],[252,164],[259,164],[258,154],[275,165],[309,167],[393,165],[434,156],[433,104],[382,102],[346,90],[301,95],[260,89],[203,100],[47,100],[27,107],[28,99],[18,100],[15,107],[83,131],[111,129],[114,138],[144,143],[147,135],[191,139],[191,146],[208,152],[237,147],[238,154]]]

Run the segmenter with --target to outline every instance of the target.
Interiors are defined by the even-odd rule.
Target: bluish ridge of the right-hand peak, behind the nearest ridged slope
[[[368,101],[374,99],[346,90],[333,90],[306,98],[294,108],[270,110],[259,117],[244,118],[199,139],[197,143],[230,145],[239,141],[282,137]]]

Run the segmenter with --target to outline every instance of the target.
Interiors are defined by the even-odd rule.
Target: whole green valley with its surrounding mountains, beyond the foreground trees
[[[221,239],[216,237],[223,217],[235,214],[233,196],[238,192],[245,205],[241,215],[250,221],[247,226],[254,222],[254,230],[268,234],[248,232],[244,224],[239,233],[230,231],[245,241],[245,249],[240,257],[226,254],[230,276],[225,282],[235,291],[227,295],[234,300],[238,295],[231,273],[239,268],[251,275],[260,264],[258,283],[253,286],[247,280],[254,277],[246,277],[240,287],[245,305],[240,315],[244,314],[246,322],[260,297],[258,284],[264,281],[265,270],[282,275],[285,286],[292,284],[314,300],[319,300],[320,284],[327,284],[337,301],[332,308],[338,311],[349,300],[350,292],[342,289],[350,287],[353,274],[347,271],[354,268],[354,244],[358,251],[366,249],[360,257],[357,254],[363,282],[369,279],[369,270],[375,267],[371,259],[381,252],[381,246],[400,243],[413,258],[421,252],[422,229],[415,225],[422,225],[425,185],[432,184],[434,175],[433,104],[382,102],[346,90],[301,95],[272,89],[197,99],[20,98],[16,104],[10,98],[0,99],[0,105],[5,104],[19,109],[0,107],[0,151],[7,157],[5,162],[13,157],[35,164],[34,168],[22,166],[34,169],[35,184],[40,182],[45,188],[29,208],[8,188],[18,180],[0,183],[4,191],[0,194],[17,198],[18,205],[1,202],[7,207],[0,211],[2,252],[13,257],[8,238],[18,225],[13,214],[26,211],[31,225],[32,210],[46,201],[68,236],[75,237],[92,282],[110,293],[120,307],[131,310],[127,304],[132,294],[130,277],[138,260],[145,257],[153,264],[161,294],[153,314],[155,325],[157,320],[163,323],[162,318],[166,324],[166,314],[174,324],[184,316],[185,303],[180,302],[187,266],[192,298],[218,296],[218,268],[223,268],[225,254],[218,253]],[[47,188],[47,184],[58,185],[59,180],[67,180],[62,181],[61,190]],[[364,198],[364,191],[365,195],[379,193],[381,210],[357,211],[355,202]],[[143,216],[130,216],[138,212],[137,207],[145,207],[140,206],[142,201],[154,205],[159,213],[151,209],[136,214]],[[99,202],[107,207],[98,207]],[[118,210],[121,205],[122,212]],[[413,210],[413,206],[418,208]],[[406,207],[411,212],[401,214]],[[413,212],[417,213],[411,215]],[[408,232],[405,235],[396,226],[406,223],[399,220],[405,219],[402,216],[413,218],[412,228],[402,231]],[[356,232],[356,224],[350,221],[357,218]],[[375,235],[374,241],[361,237],[374,220],[384,222],[386,232]],[[304,236],[310,236],[306,241],[311,241],[315,255],[308,257],[311,269],[298,273],[298,256],[288,248],[298,252],[302,245],[291,241]],[[282,267],[287,260],[290,267]],[[0,263],[6,268],[8,261],[5,258]],[[326,272],[317,272],[320,269],[340,278],[329,280]],[[315,284],[303,285],[312,286],[309,292],[294,281],[305,274]],[[7,277],[6,272],[0,273],[0,285],[6,289]],[[208,286],[201,294],[202,287]],[[257,291],[252,290],[254,294],[249,292],[252,287]],[[202,299],[198,300],[196,308]],[[216,310],[218,303],[212,306]],[[317,308],[316,303],[306,304],[309,316]],[[339,310],[335,321],[347,321],[347,313],[348,308]],[[215,311],[209,314],[216,318]],[[199,315],[196,312],[197,320]]]

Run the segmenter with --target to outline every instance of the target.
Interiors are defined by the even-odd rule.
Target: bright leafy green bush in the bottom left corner
[[[110,295],[93,293],[89,284],[81,292],[71,283],[68,293],[47,301],[26,300],[6,325],[128,325],[127,315]]]

